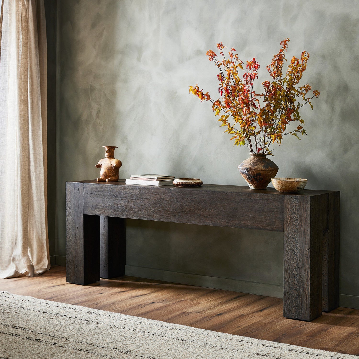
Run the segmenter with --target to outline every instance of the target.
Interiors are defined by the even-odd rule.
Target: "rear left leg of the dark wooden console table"
[[[125,230],[124,218],[100,217],[101,278],[115,278],[125,274]]]

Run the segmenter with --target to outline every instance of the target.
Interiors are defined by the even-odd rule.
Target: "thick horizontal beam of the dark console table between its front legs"
[[[220,185],[83,185],[85,214],[283,231],[283,195],[271,191]]]

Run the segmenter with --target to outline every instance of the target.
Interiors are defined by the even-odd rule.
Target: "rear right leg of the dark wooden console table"
[[[323,242],[323,312],[339,306],[340,192],[328,196],[328,228]]]

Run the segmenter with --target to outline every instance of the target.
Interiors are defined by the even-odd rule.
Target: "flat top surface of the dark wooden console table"
[[[140,187],[148,188],[149,190],[191,190],[191,191],[215,191],[215,192],[235,192],[235,193],[248,193],[248,194],[264,194],[264,195],[278,195],[278,196],[317,196],[326,193],[333,193],[339,191],[325,191],[325,190],[302,190],[297,193],[281,193],[275,188],[267,187],[265,190],[251,190],[248,186],[233,186],[233,185],[211,185],[204,183],[200,187],[176,187],[174,185],[167,186],[148,186],[148,185],[126,185],[124,179],[118,180],[118,182],[97,182],[96,180],[85,180],[85,181],[69,181],[70,183],[87,183],[89,185],[98,186],[128,186],[130,188]]]

